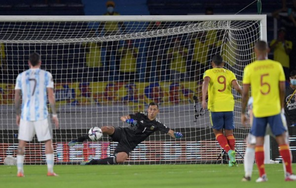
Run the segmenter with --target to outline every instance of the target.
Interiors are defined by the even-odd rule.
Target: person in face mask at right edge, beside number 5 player
[[[290,86],[286,87],[285,115],[287,126],[296,126],[296,70],[290,73]]]

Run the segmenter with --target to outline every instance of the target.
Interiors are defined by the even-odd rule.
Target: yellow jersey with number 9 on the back
[[[208,109],[211,112],[230,112],[234,110],[234,99],[231,92],[235,75],[226,69],[213,68],[207,70],[203,78],[209,77]]]

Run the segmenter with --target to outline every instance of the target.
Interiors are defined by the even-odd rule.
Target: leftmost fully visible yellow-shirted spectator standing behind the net
[[[95,31],[91,30],[91,35],[95,35]],[[107,81],[104,77],[104,66],[101,59],[101,46],[102,42],[88,42],[82,44],[85,47],[85,65],[88,69],[87,77],[90,81]]]

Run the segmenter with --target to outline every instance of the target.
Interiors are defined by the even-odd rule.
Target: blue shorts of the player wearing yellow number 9
[[[213,129],[221,130],[232,130],[234,126],[234,113],[231,112],[209,112],[211,124]]]

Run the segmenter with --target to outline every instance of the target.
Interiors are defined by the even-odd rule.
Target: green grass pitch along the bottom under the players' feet
[[[292,188],[285,182],[282,164],[267,164],[268,182],[241,182],[244,166],[228,165],[56,165],[59,177],[47,177],[45,165],[25,165],[25,177],[16,177],[16,166],[0,165],[0,188]],[[296,164],[293,164],[294,172]]]

